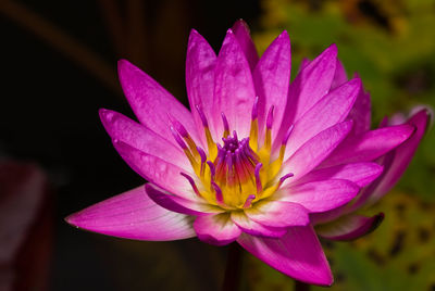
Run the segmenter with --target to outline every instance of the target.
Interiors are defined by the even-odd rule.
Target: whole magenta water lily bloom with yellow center
[[[391,177],[376,184],[381,190],[366,190],[380,197],[420,141],[413,137],[423,122],[415,118],[370,130],[369,97],[359,77],[347,80],[334,45],[289,84],[287,33],[259,58],[241,21],[217,55],[191,31],[190,111],[129,62],[120,61],[119,75],[139,123],[110,110],[100,117],[116,151],[148,184],[67,222],[137,240],[237,241],[308,283],[333,282],[314,225],[345,215],[388,168],[383,175]]]

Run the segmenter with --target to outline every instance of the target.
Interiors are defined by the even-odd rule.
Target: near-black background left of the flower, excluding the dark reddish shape
[[[63,218],[142,182],[98,117],[100,107],[133,116],[117,60],[137,64],[186,103],[190,29],[217,50],[237,18],[256,23],[257,1],[1,1],[1,12],[0,153],[37,163],[54,188],[50,289],[217,290],[225,249],[196,239],[114,239]],[[115,14],[121,27],[113,28]]]

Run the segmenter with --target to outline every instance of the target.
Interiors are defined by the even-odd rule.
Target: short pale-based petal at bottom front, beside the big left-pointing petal
[[[215,245],[228,244],[241,233],[240,228],[233,223],[228,213],[198,216],[195,219],[194,228],[200,240]]]

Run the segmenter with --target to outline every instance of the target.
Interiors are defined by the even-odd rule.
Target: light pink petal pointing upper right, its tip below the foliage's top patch
[[[345,121],[360,90],[360,79],[349,80],[307,111],[294,126],[284,159],[290,156],[300,146],[322,130]],[[281,142],[275,144],[281,147]]]

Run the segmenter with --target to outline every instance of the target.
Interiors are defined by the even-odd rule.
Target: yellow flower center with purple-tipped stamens
[[[258,99],[252,107],[250,135],[241,140],[236,130],[233,136],[229,135],[228,122],[225,114],[221,114],[224,125],[222,144],[213,141],[206,115],[197,106],[208,143],[207,154],[196,146],[182,124],[173,122],[171,130],[174,139],[189,159],[197,177],[181,174],[190,182],[195,193],[210,204],[225,210],[248,208],[273,194],[285,179],[293,176],[287,174],[277,178],[291,128],[282,140],[279,156],[271,161],[274,107],[269,111],[263,142],[259,147],[257,106]]]

